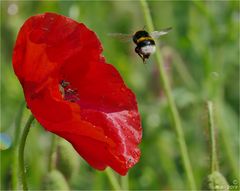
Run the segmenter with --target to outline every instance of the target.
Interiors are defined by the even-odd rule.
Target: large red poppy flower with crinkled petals
[[[140,116],[135,95],[101,52],[84,24],[46,13],[22,26],[13,67],[46,130],[71,142],[92,167],[124,175],[140,157]]]

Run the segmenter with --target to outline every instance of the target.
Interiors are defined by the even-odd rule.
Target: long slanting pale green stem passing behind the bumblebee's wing
[[[152,22],[152,18],[151,18],[150,12],[149,12],[147,2],[146,2],[146,0],[140,0],[140,2],[141,2],[142,10],[144,13],[147,28],[149,31],[154,31],[153,22]],[[162,60],[158,46],[157,46],[155,55],[156,55],[158,68],[159,68],[159,72],[160,72],[160,78],[161,78],[161,81],[163,84],[164,91],[166,93],[170,112],[171,112],[171,115],[173,118],[178,143],[180,146],[181,157],[182,157],[183,165],[184,165],[184,168],[185,168],[185,171],[187,174],[187,178],[189,181],[189,186],[192,190],[196,190],[196,184],[195,184],[195,180],[193,177],[193,171],[192,171],[192,167],[191,167],[189,156],[188,156],[187,146],[186,146],[184,133],[183,133],[183,129],[182,129],[181,121],[180,121],[180,116],[179,116],[179,113],[177,111],[175,102],[174,102],[172,94],[171,94],[169,81],[168,81],[168,78],[167,78],[167,75],[166,75],[166,72],[164,69],[163,60]]]

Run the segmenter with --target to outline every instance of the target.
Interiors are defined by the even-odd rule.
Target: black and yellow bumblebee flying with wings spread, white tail
[[[135,52],[141,57],[143,63],[145,64],[145,60],[156,51],[156,43],[154,39],[167,34],[171,29],[172,27],[161,31],[153,31],[151,33],[148,33],[145,30],[139,30],[134,34],[111,33],[110,35],[118,37],[122,40],[132,38],[133,42],[136,44]]]

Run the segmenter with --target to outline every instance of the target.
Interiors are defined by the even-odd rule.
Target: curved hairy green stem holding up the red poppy
[[[25,167],[24,167],[24,148],[25,148],[26,139],[27,139],[27,136],[28,136],[28,133],[29,133],[29,130],[30,130],[33,120],[34,120],[34,117],[32,114],[30,114],[28,121],[24,127],[22,137],[20,139],[20,145],[19,145],[18,162],[19,162],[19,170],[20,170],[20,176],[21,176],[23,190],[28,190],[27,179],[26,179],[26,174],[25,174]]]

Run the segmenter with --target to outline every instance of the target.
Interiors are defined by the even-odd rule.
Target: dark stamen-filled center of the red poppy
[[[64,100],[70,102],[77,102],[80,100],[78,90],[76,88],[73,88],[70,82],[61,80],[59,83],[59,91],[61,92]]]

